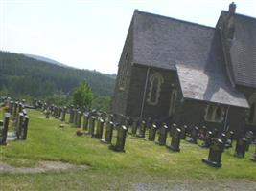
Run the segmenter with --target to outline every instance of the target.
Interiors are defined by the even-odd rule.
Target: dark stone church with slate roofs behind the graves
[[[256,132],[256,18],[235,11],[207,27],[135,10],[112,112]]]

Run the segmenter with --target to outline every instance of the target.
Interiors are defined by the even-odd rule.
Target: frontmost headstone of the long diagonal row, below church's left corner
[[[127,138],[127,127],[125,125],[122,125],[118,128],[117,132],[117,138],[116,138],[116,144],[110,145],[109,149],[117,152],[125,152],[125,144],[126,144],[126,138]]]

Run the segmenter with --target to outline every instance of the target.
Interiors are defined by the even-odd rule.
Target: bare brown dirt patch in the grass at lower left
[[[61,161],[39,161],[35,167],[13,167],[7,163],[0,161],[1,173],[44,173],[47,171],[63,171],[69,169],[88,168],[86,165],[74,165]]]

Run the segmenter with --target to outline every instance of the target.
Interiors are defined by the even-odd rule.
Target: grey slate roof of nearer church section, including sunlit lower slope
[[[176,70],[184,97],[248,107],[225,76],[215,28],[134,11],[132,43],[133,63]]]

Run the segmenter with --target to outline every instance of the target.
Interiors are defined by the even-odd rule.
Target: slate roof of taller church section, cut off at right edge
[[[234,16],[235,33],[230,55],[235,83],[256,88],[256,18]]]

